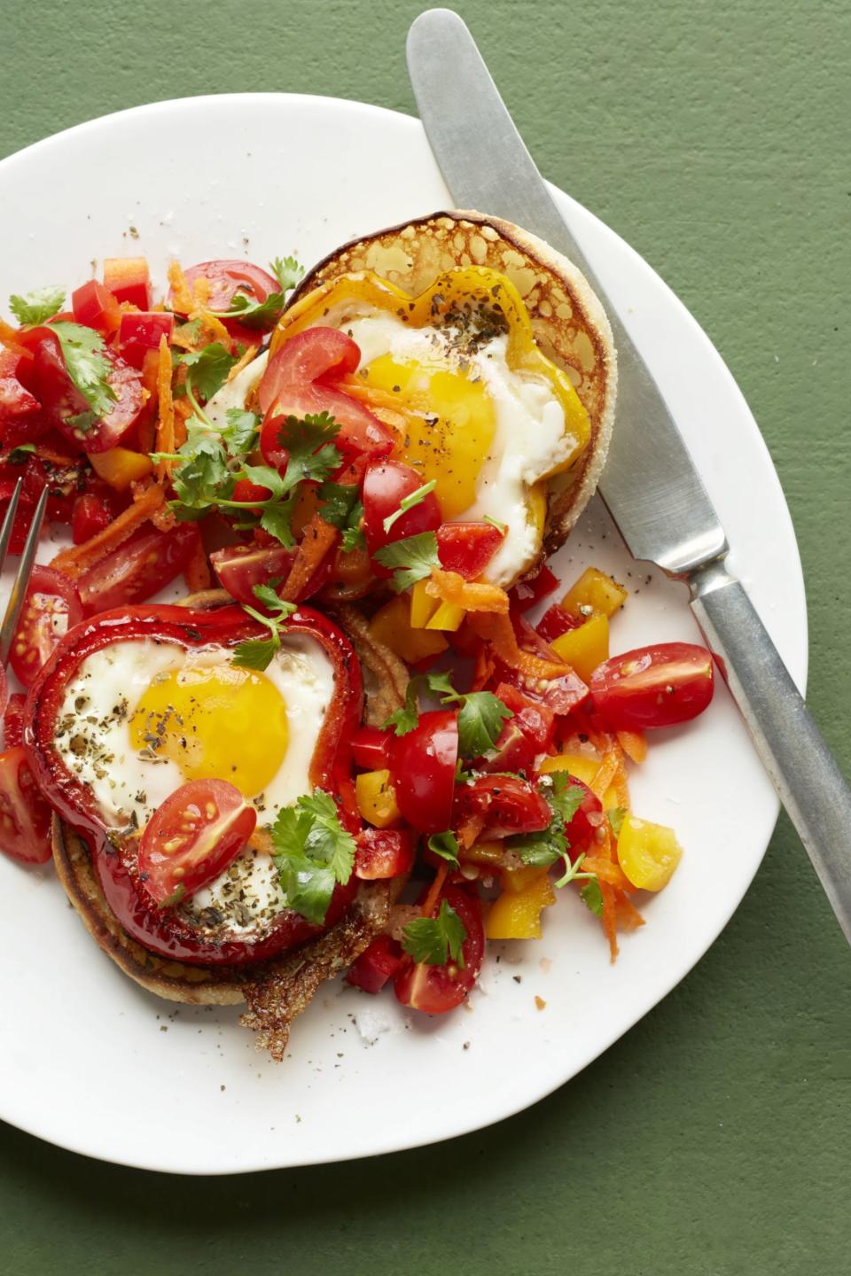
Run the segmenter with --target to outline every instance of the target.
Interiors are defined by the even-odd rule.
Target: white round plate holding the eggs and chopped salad
[[[806,618],[788,512],[757,425],[708,338],[653,271],[556,193],[656,374],[721,513],[732,560],[799,685]],[[94,120],[0,165],[0,287],[74,287],[89,263],[144,253],[310,263],[341,241],[452,202],[418,121],[328,98],[208,97]],[[732,304],[732,299],[731,299]],[[615,649],[697,639],[680,586],[635,564],[597,504],[558,555],[630,583]],[[233,1011],[172,1008],[96,949],[52,870],[0,856],[0,1115],[64,1147],[145,1169],[217,1174],[369,1156],[500,1120],[573,1077],[690,970],[755,873],[777,817],[723,688],[656,738],[634,805],[685,855],[610,966],[578,898],[538,943],[487,958],[468,1009],[411,1018],[328,986],[279,1067]],[[546,1008],[538,1011],[535,998]],[[365,1040],[366,1037],[366,1040]],[[374,1041],[374,1044],[371,1044]],[[427,1101],[422,1096],[427,1095]],[[435,1095],[440,1096],[435,1101]]]

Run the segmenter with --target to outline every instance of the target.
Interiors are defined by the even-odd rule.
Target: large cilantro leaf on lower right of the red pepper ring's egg
[[[272,826],[272,842],[288,906],[322,925],[336,884],[348,882],[355,865],[355,838],[342,828],[333,798],[318,789],[285,806]]]

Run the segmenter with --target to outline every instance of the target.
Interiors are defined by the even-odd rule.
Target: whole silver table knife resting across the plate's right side
[[[851,790],[726,567],[727,538],[658,385],[556,208],[458,14],[420,14],[407,55],[420,119],[455,207],[505,217],[538,235],[579,267],[606,306],[619,383],[600,493],[634,558],[689,584],[697,621],[851,943]]]

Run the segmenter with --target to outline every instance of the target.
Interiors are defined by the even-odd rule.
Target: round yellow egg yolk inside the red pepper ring
[[[168,758],[185,780],[227,780],[256,798],[287,752],[287,707],[277,686],[253,670],[176,669],[145,690],[130,740],[143,758]]]

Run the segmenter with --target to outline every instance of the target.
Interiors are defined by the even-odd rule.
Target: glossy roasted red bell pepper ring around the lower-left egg
[[[334,692],[309,768],[310,783],[333,794],[351,772],[350,741],[360,722],[364,698],[360,666],[346,635],[316,611],[302,607],[293,612],[287,633],[313,638],[334,670]],[[237,606],[204,612],[176,606],[106,611],[78,627],[70,641],[63,639],[27,701],[24,744],[38,787],[63,819],[85,836],[107,903],[128,934],[149,951],[175,961],[212,965],[262,961],[323,928],[311,926],[299,914],[283,909],[256,935],[211,939],[177,910],[157,909],[138,879],[138,843],[119,838],[114,846],[106,837],[107,828],[91,790],[66,767],[56,748],[57,722],[69,683],[83,661],[112,643],[149,639],[189,652],[205,646],[231,648],[264,634],[263,627]],[[346,886],[337,887],[325,928],[339,917],[356,888],[353,874]]]

